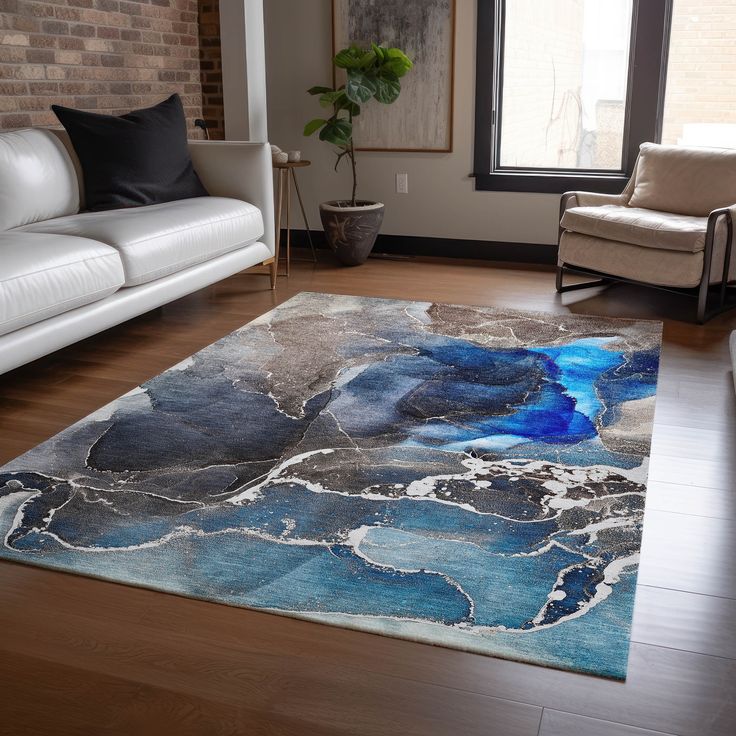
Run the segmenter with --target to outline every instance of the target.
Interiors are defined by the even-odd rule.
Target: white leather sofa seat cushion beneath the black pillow
[[[257,207],[198,197],[134,209],[84,212],[21,228],[99,240],[120,253],[125,285],[154,281],[251,243],[263,235]]]

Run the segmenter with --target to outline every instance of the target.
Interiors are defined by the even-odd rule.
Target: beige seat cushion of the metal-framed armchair
[[[705,248],[707,217],[677,215],[641,207],[571,207],[562,217],[565,230],[644,248],[698,253]],[[719,227],[723,228],[722,223]],[[721,235],[722,233],[718,233]]]

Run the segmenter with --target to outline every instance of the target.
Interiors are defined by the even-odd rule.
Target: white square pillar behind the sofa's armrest
[[[225,137],[268,140],[263,0],[221,0]]]

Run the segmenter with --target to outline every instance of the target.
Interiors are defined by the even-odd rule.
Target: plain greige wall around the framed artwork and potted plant
[[[360,152],[358,196],[385,202],[387,234],[554,244],[558,195],[476,192],[469,177],[475,5],[475,0],[457,0],[453,153]],[[265,26],[269,139],[285,150],[302,150],[312,161],[298,176],[311,225],[319,229],[319,202],[350,193],[348,168],[338,174],[332,170],[332,147],[302,136],[304,123],[321,112],[306,90],[332,83],[331,1],[267,0]],[[396,194],[399,172],[409,175],[409,194]],[[298,218],[296,227],[301,227]]]

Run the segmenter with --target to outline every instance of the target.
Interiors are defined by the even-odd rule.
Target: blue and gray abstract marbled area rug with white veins
[[[0,469],[0,556],[624,678],[660,330],[300,294]]]

